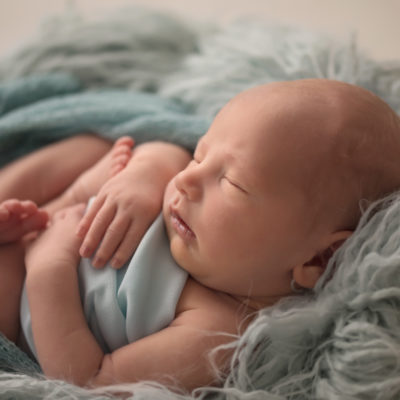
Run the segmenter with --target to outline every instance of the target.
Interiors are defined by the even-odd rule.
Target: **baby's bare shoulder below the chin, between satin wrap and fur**
[[[179,298],[173,325],[190,324],[211,331],[240,334],[250,312],[232,296],[212,290],[189,277]]]

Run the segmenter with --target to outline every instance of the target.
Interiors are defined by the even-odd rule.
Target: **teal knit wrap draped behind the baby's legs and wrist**
[[[156,94],[86,92],[69,74],[21,78],[0,85],[0,166],[82,132],[112,140],[131,135],[137,143],[162,139],[192,149],[210,122]]]

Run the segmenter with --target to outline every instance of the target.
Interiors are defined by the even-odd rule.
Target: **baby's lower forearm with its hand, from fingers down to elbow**
[[[97,369],[102,351],[87,326],[77,268],[80,240],[74,234],[85,205],[57,212],[26,249],[26,288],[39,362],[50,377],[70,379]],[[84,349],[84,351],[83,351]],[[86,357],[85,354],[90,355]]]

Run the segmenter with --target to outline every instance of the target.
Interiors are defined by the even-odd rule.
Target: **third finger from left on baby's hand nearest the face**
[[[128,227],[129,220],[117,213],[104,234],[100,247],[96,251],[92,261],[94,267],[101,268],[106,264],[121,243],[121,239],[125,236]]]

